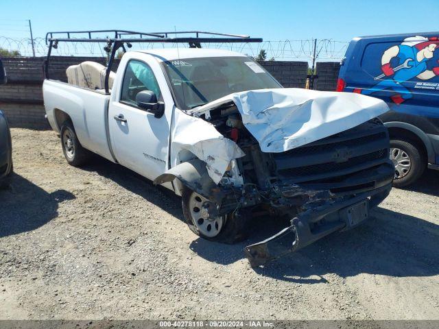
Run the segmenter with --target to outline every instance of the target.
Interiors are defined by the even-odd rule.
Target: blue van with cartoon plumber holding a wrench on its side
[[[380,119],[390,133],[394,186],[439,169],[439,32],[353,38],[337,91],[388,103]]]

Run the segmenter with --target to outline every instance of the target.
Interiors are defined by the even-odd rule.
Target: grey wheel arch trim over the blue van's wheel
[[[416,141],[420,147],[423,148],[424,154],[427,155],[428,162],[434,162],[433,145],[431,145],[431,141],[425,132],[410,123],[400,121],[386,122],[384,125],[389,130],[390,139],[397,137]]]

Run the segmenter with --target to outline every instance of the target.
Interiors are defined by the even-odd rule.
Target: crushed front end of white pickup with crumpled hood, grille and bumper
[[[333,232],[359,225],[368,219],[369,209],[388,195],[392,184],[394,168],[388,158],[388,132],[381,121],[370,118],[385,109],[368,97],[366,101],[375,106],[375,112],[346,112],[344,119],[352,121],[349,123],[337,123],[339,117],[328,119],[326,126],[322,124],[322,130],[326,130],[323,136],[312,118],[324,117],[323,113],[329,109],[320,98],[313,97],[311,101],[320,102],[318,110],[309,100],[294,107],[288,97],[283,99],[283,103],[290,104],[292,111],[297,110],[298,117],[304,119],[304,122],[294,121],[295,117],[289,114],[289,121],[294,121],[289,125],[285,120],[278,122],[281,112],[276,112],[270,104],[265,110],[243,110],[236,99],[220,100],[194,109],[191,115],[184,114],[181,120],[197,125],[199,121],[209,123],[214,128],[209,130],[212,138],[196,139],[195,129],[173,136],[174,143],[197,158],[181,161],[154,183],[178,178],[215,205],[209,207],[210,217],[245,209],[250,217],[263,212],[290,219],[288,227],[244,249],[252,267],[296,252]],[[275,97],[268,98],[273,101]],[[340,113],[338,108],[332,110]],[[313,122],[309,124],[305,119]],[[304,132],[307,124],[309,131]],[[200,124],[199,130],[202,128]],[[215,139],[216,133],[219,137]],[[190,138],[195,139],[189,143]],[[234,146],[227,147],[225,141]]]

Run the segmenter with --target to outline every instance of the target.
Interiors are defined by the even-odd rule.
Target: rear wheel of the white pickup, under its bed
[[[86,164],[91,158],[91,152],[82,147],[75,133],[75,128],[70,120],[64,121],[61,125],[61,145],[64,157],[73,167],[80,167]]]

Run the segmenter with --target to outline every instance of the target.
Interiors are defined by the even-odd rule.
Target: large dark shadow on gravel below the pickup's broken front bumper
[[[267,221],[270,223],[270,221]],[[269,225],[270,230],[273,225]],[[282,227],[278,225],[276,229]],[[270,236],[265,230],[263,238]],[[254,271],[277,280],[300,283],[326,282],[323,276],[337,273],[346,278],[359,273],[385,276],[434,276],[439,273],[439,226],[410,215],[377,208],[368,223],[348,232],[329,235],[294,254],[276,260]],[[220,264],[244,258],[246,245],[212,245],[197,239],[191,249],[199,256]]]

